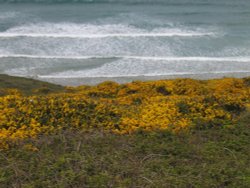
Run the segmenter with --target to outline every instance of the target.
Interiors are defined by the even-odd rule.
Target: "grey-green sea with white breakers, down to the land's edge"
[[[62,85],[250,76],[250,0],[0,0],[0,74]]]

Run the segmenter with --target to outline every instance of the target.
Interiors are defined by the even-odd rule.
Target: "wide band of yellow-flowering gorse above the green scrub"
[[[223,126],[237,122],[250,104],[247,78],[104,82],[67,87],[57,94],[44,95],[45,88],[37,91],[24,96],[17,90],[1,90],[0,148],[75,128],[130,134]]]

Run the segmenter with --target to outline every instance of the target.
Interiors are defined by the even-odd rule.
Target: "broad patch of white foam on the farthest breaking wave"
[[[47,38],[107,38],[107,37],[193,37],[210,36],[214,32],[200,29],[160,27],[153,30],[138,28],[129,24],[74,24],[39,23],[8,29],[0,33],[1,38],[47,37]]]

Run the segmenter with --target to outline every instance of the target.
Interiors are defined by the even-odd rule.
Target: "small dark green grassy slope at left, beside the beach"
[[[31,94],[36,89],[41,92],[51,93],[62,91],[63,87],[47,82],[33,80],[30,78],[14,77],[0,74],[0,89],[14,88],[22,91],[24,94]]]

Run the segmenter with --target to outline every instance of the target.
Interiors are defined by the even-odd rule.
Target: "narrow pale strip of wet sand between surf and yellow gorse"
[[[20,79],[30,79],[38,82],[45,82],[53,85],[60,86],[81,86],[98,85],[105,81],[113,81],[119,84],[130,83],[133,81],[158,81],[158,80],[174,80],[174,79],[194,79],[194,80],[212,80],[212,79],[223,79],[223,78],[247,78],[250,77],[250,72],[230,72],[230,73],[190,73],[190,74],[173,74],[173,75],[159,75],[159,76],[120,76],[120,77],[25,77],[17,75],[0,74],[0,76],[20,78]],[[1,78],[1,77],[0,77]]]

